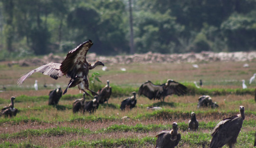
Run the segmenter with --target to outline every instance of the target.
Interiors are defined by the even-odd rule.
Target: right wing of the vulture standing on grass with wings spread
[[[174,80],[171,80],[166,89],[167,95],[176,94],[180,96],[186,94],[188,88],[178,82],[175,82]]]

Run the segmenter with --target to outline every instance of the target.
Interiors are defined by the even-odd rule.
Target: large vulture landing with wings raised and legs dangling
[[[27,74],[21,76],[18,80],[18,85],[20,85],[27,77],[34,74],[35,72],[40,72],[45,75],[57,80],[59,77],[66,75],[67,78],[71,78],[67,88],[63,94],[67,93],[67,89],[70,87],[78,86],[79,90],[82,90],[86,93],[87,96],[91,96],[84,89],[87,89],[92,93],[93,96],[98,95],[93,90],[89,89],[88,82],[88,72],[91,69],[94,69],[98,65],[104,66],[101,61],[95,61],[94,64],[91,64],[86,61],[86,55],[90,47],[93,45],[91,40],[88,40],[84,43],[81,43],[75,49],[69,51],[65,60],[61,63],[48,63],[39,68],[36,68]]]

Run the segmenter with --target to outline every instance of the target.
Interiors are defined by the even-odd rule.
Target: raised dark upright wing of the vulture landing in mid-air
[[[91,40],[81,43],[75,49],[67,53],[67,57],[63,62],[61,62],[61,71],[64,75],[70,76],[72,79],[76,76],[73,74],[76,69],[79,69],[77,63],[87,63],[86,55],[90,47],[93,45]]]

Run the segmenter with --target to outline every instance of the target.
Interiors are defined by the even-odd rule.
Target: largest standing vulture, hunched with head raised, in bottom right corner
[[[244,107],[239,107],[240,114],[228,117],[219,122],[211,134],[210,148],[222,148],[225,144],[232,148],[243,126]]]

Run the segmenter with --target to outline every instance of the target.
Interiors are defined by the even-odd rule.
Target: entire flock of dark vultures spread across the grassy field
[[[54,89],[49,93],[49,102],[48,105],[57,105],[62,94],[67,93],[68,88],[78,86],[80,91],[83,91],[83,98],[76,99],[73,103],[73,112],[76,113],[78,111],[93,113],[97,110],[99,104],[103,104],[105,102],[108,103],[108,99],[111,96],[112,88],[109,85],[109,80],[107,80],[107,85],[100,89],[97,93],[93,90],[89,89],[88,83],[88,72],[91,69],[94,69],[96,66],[104,66],[101,61],[96,61],[93,64],[86,61],[86,55],[90,47],[93,45],[91,40],[88,40],[84,43],[81,43],[75,49],[68,52],[65,60],[61,63],[48,63],[39,68],[36,68],[27,74],[21,76],[18,80],[18,84],[20,85],[27,77],[34,74],[35,72],[40,72],[45,75],[49,75],[54,79],[58,79],[59,77],[66,76],[70,78],[67,88],[62,92],[61,88]],[[91,96],[89,91],[94,96],[93,100],[85,101],[86,96]],[[143,83],[140,88],[138,95],[144,95],[148,99],[158,99],[161,102],[164,102],[164,98],[168,95],[184,95],[187,93],[187,87],[175,82],[174,80],[167,80],[166,83],[162,85],[155,85],[151,81],[147,81]],[[136,105],[136,93],[132,93],[133,96],[124,99],[121,102],[121,110],[130,110]],[[11,104],[5,106],[1,109],[0,115],[7,116],[15,116],[18,112],[16,108],[14,108],[14,99],[11,98]],[[210,96],[204,95],[198,99],[197,108],[200,107],[211,107],[216,108],[218,105],[212,102]],[[242,128],[243,120],[244,120],[244,107],[240,106],[240,114],[232,117],[228,117],[219,122],[216,127],[213,129],[211,134],[212,140],[210,142],[210,148],[221,148],[225,144],[232,148],[236,143],[236,138]],[[191,120],[189,120],[188,128],[189,130],[197,130],[199,127],[199,123],[196,120],[195,112],[191,113]],[[181,140],[181,134],[178,133],[178,124],[173,123],[172,129],[170,131],[162,131],[156,137],[156,146],[155,148],[175,148]]]

